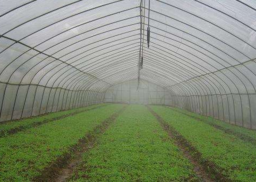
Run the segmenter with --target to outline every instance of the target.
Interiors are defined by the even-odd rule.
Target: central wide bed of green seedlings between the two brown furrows
[[[198,181],[193,165],[143,105],[130,105],[84,153],[76,182]]]

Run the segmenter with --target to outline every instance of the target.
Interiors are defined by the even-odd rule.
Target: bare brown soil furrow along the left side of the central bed
[[[125,110],[126,106],[112,114],[109,118],[102,121],[99,125],[88,132],[81,138],[77,144],[71,146],[68,152],[50,164],[44,173],[37,176],[33,181],[48,182],[65,182],[71,177],[73,170],[82,162],[82,154],[91,149],[99,135],[104,133],[109,125],[114,122],[117,116]]]

